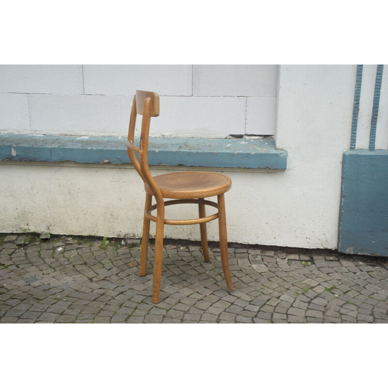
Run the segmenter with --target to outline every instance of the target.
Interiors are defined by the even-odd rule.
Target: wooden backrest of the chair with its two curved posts
[[[137,147],[133,144],[137,114],[143,115],[140,147]],[[163,197],[154,179],[152,178],[148,167],[149,124],[151,117],[157,116],[159,116],[158,94],[154,92],[136,90],[136,95],[133,97],[132,110],[129,119],[127,151],[132,165],[135,167],[143,181],[148,184],[158,203],[160,200],[163,200]],[[135,152],[139,153],[140,163],[136,158]]]

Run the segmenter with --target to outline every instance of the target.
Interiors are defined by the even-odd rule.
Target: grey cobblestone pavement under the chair
[[[219,249],[166,245],[155,305],[152,245],[140,277],[139,240],[32,240],[0,235],[0,323],[388,323],[387,258],[229,248],[228,290]]]

